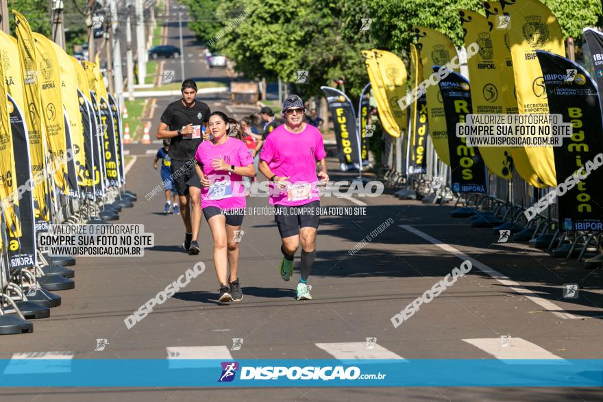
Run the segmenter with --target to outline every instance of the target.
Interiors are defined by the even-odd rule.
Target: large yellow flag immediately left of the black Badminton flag
[[[557,18],[538,0],[504,0],[502,12],[508,15],[508,38],[517,106],[521,114],[548,114],[549,106],[540,63],[535,50],[550,51],[565,57],[563,34]],[[552,147],[524,147],[528,160],[543,184],[556,186]]]

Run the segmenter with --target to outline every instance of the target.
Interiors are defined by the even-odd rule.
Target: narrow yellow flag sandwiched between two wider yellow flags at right
[[[498,76],[499,88],[496,103],[502,108],[503,113],[517,114],[517,93],[515,92],[515,76],[513,73],[513,59],[511,58],[508,43],[508,29],[506,19],[502,13],[502,7],[498,1],[485,1],[486,21],[488,24],[492,48],[494,50],[494,64]],[[519,176],[534,187],[543,187],[538,175],[532,168],[528,154],[524,147],[510,147],[513,156],[513,166]]]

